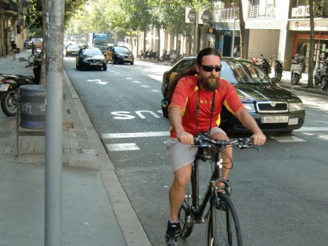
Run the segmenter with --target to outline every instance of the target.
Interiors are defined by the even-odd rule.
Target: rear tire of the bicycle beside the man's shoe
[[[184,200],[182,206],[179,210],[179,222],[180,222],[180,233],[182,238],[187,238],[190,236],[194,221],[193,221],[193,214],[192,214],[192,199],[194,194],[194,170],[191,170],[191,178],[189,183],[186,187]]]

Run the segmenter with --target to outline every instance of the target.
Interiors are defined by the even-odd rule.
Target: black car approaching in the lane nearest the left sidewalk
[[[79,50],[76,57],[76,69],[103,68],[107,70],[107,61],[99,48],[86,47]]]

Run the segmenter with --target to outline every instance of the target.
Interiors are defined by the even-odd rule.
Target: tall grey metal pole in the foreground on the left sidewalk
[[[61,245],[64,0],[46,0],[45,245]]]

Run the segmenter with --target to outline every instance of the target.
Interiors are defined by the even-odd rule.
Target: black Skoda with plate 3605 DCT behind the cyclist
[[[167,86],[184,69],[195,66],[196,57],[186,57],[163,74],[162,95],[166,98]],[[221,78],[232,83],[244,107],[264,132],[290,133],[302,127],[305,110],[302,100],[276,85],[277,78],[269,78],[251,61],[222,57]],[[165,100],[166,101],[166,100]],[[167,115],[167,103],[161,103]],[[227,132],[249,132],[225,107],[220,115],[220,127]]]

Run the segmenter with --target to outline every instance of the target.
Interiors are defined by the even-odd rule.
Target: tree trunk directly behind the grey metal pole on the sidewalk
[[[47,41],[47,33],[49,30],[49,20],[46,19],[46,2],[42,0],[42,50],[41,50],[41,72],[40,72],[40,85],[46,84],[46,69],[47,69],[47,62],[46,62],[46,41]]]

